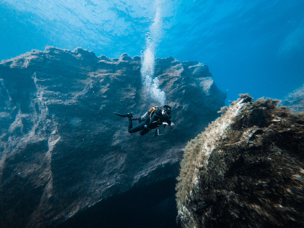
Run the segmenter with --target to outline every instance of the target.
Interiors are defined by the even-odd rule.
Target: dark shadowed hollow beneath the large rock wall
[[[175,178],[113,195],[78,212],[56,228],[178,228]]]

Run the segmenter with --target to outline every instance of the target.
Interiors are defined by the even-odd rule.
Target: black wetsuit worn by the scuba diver
[[[159,109],[156,112],[154,112],[151,119],[150,119],[150,117],[147,117],[147,119],[145,119],[143,122],[141,122],[140,124],[138,124],[134,127],[132,124],[132,120],[129,119],[128,131],[129,131],[129,133],[134,133],[134,132],[140,131],[140,135],[144,135],[144,134],[147,134],[149,132],[149,130],[162,125],[163,122],[166,122],[170,125],[172,122],[169,118],[171,118],[171,116],[163,116],[161,114],[161,109]],[[144,127],[145,125],[147,125],[147,128]]]

